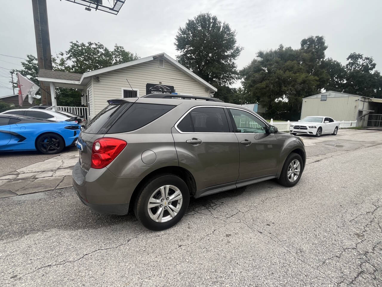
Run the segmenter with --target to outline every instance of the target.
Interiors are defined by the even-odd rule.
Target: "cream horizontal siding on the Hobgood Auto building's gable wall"
[[[153,83],[174,86],[177,93],[194,96],[209,96],[206,87],[188,77],[169,62],[164,60],[164,67],[158,67],[158,59],[122,68],[99,75],[99,82],[93,80],[94,112],[99,113],[107,106],[108,99],[122,97],[122,88],[139,90],[139,96],[146,95],[146,84]]]

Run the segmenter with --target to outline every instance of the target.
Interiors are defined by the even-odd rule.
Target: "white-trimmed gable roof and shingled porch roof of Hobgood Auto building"
[[[119,70],[122,68],[138,65],[141,63],[149,62],[151,60],[161,58],[163,57],[166,59],[170,64],[172,64],[174,67],[178,68],[181,70],[183,73],[188,75],[190,78],[193,78],[196,82],[200,83],[201,85],[205,86],[208,88],[210,91],[217,91],[217,88],[214,86],[210,85],[207,83],[205,80],[203,80],[201,77],[196,75],[195,73],[191,72],[188,68],[185,66],[179,64],[176,62],[176,60],[172,59],[169,55],[166,53],[160,53],[156,55],[152,55],[146,58],[138,59],[138,60],[133,60],[130,62],[126,62],[123,64],[118,64],[118,65],[113,65],[110,67],[106,68],[101,68],[98,70],[90,71],[81,74],[76,74],[76,73],[66,73],[66,72],[58,72],[58,71],[49,71],[49,70],[40,70],[39,71],[39,76],[38,79],[40,81],[47,81],[47,82],[60,82],[60,83],[70,83],[70,84],[76,84],[76,85],[85,85],[88,81],[89,78],[95,75],[100,75],[103,73],[111,72],[114,70]]]

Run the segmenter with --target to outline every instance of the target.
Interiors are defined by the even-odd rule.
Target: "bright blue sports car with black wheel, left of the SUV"
[[[0,114],[0,152],[59,153],[77,140],[79,132],[80,126],[74,122]]]

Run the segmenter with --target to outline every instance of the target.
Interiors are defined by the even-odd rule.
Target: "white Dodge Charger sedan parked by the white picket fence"
[[[302,120],[290,125],[290,133],[310,134],[319,137],[322,134],[336,135],[338,132],[339,122],[334,121],[331,117],[311,116],[304,117]]]

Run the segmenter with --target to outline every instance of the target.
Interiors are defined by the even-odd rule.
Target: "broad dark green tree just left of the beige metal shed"
[[[281,109],[288,111],[282,113],[284,119],[298,119],[302,98],[317,93],[322,78],[328,78],[322,72],[326,46],[321,40],[303,39],[301,49],[280,45],[276,50],[257,52],[251,64],[241,70],[246,101],[265,106],[267,117],[279,118]]]

